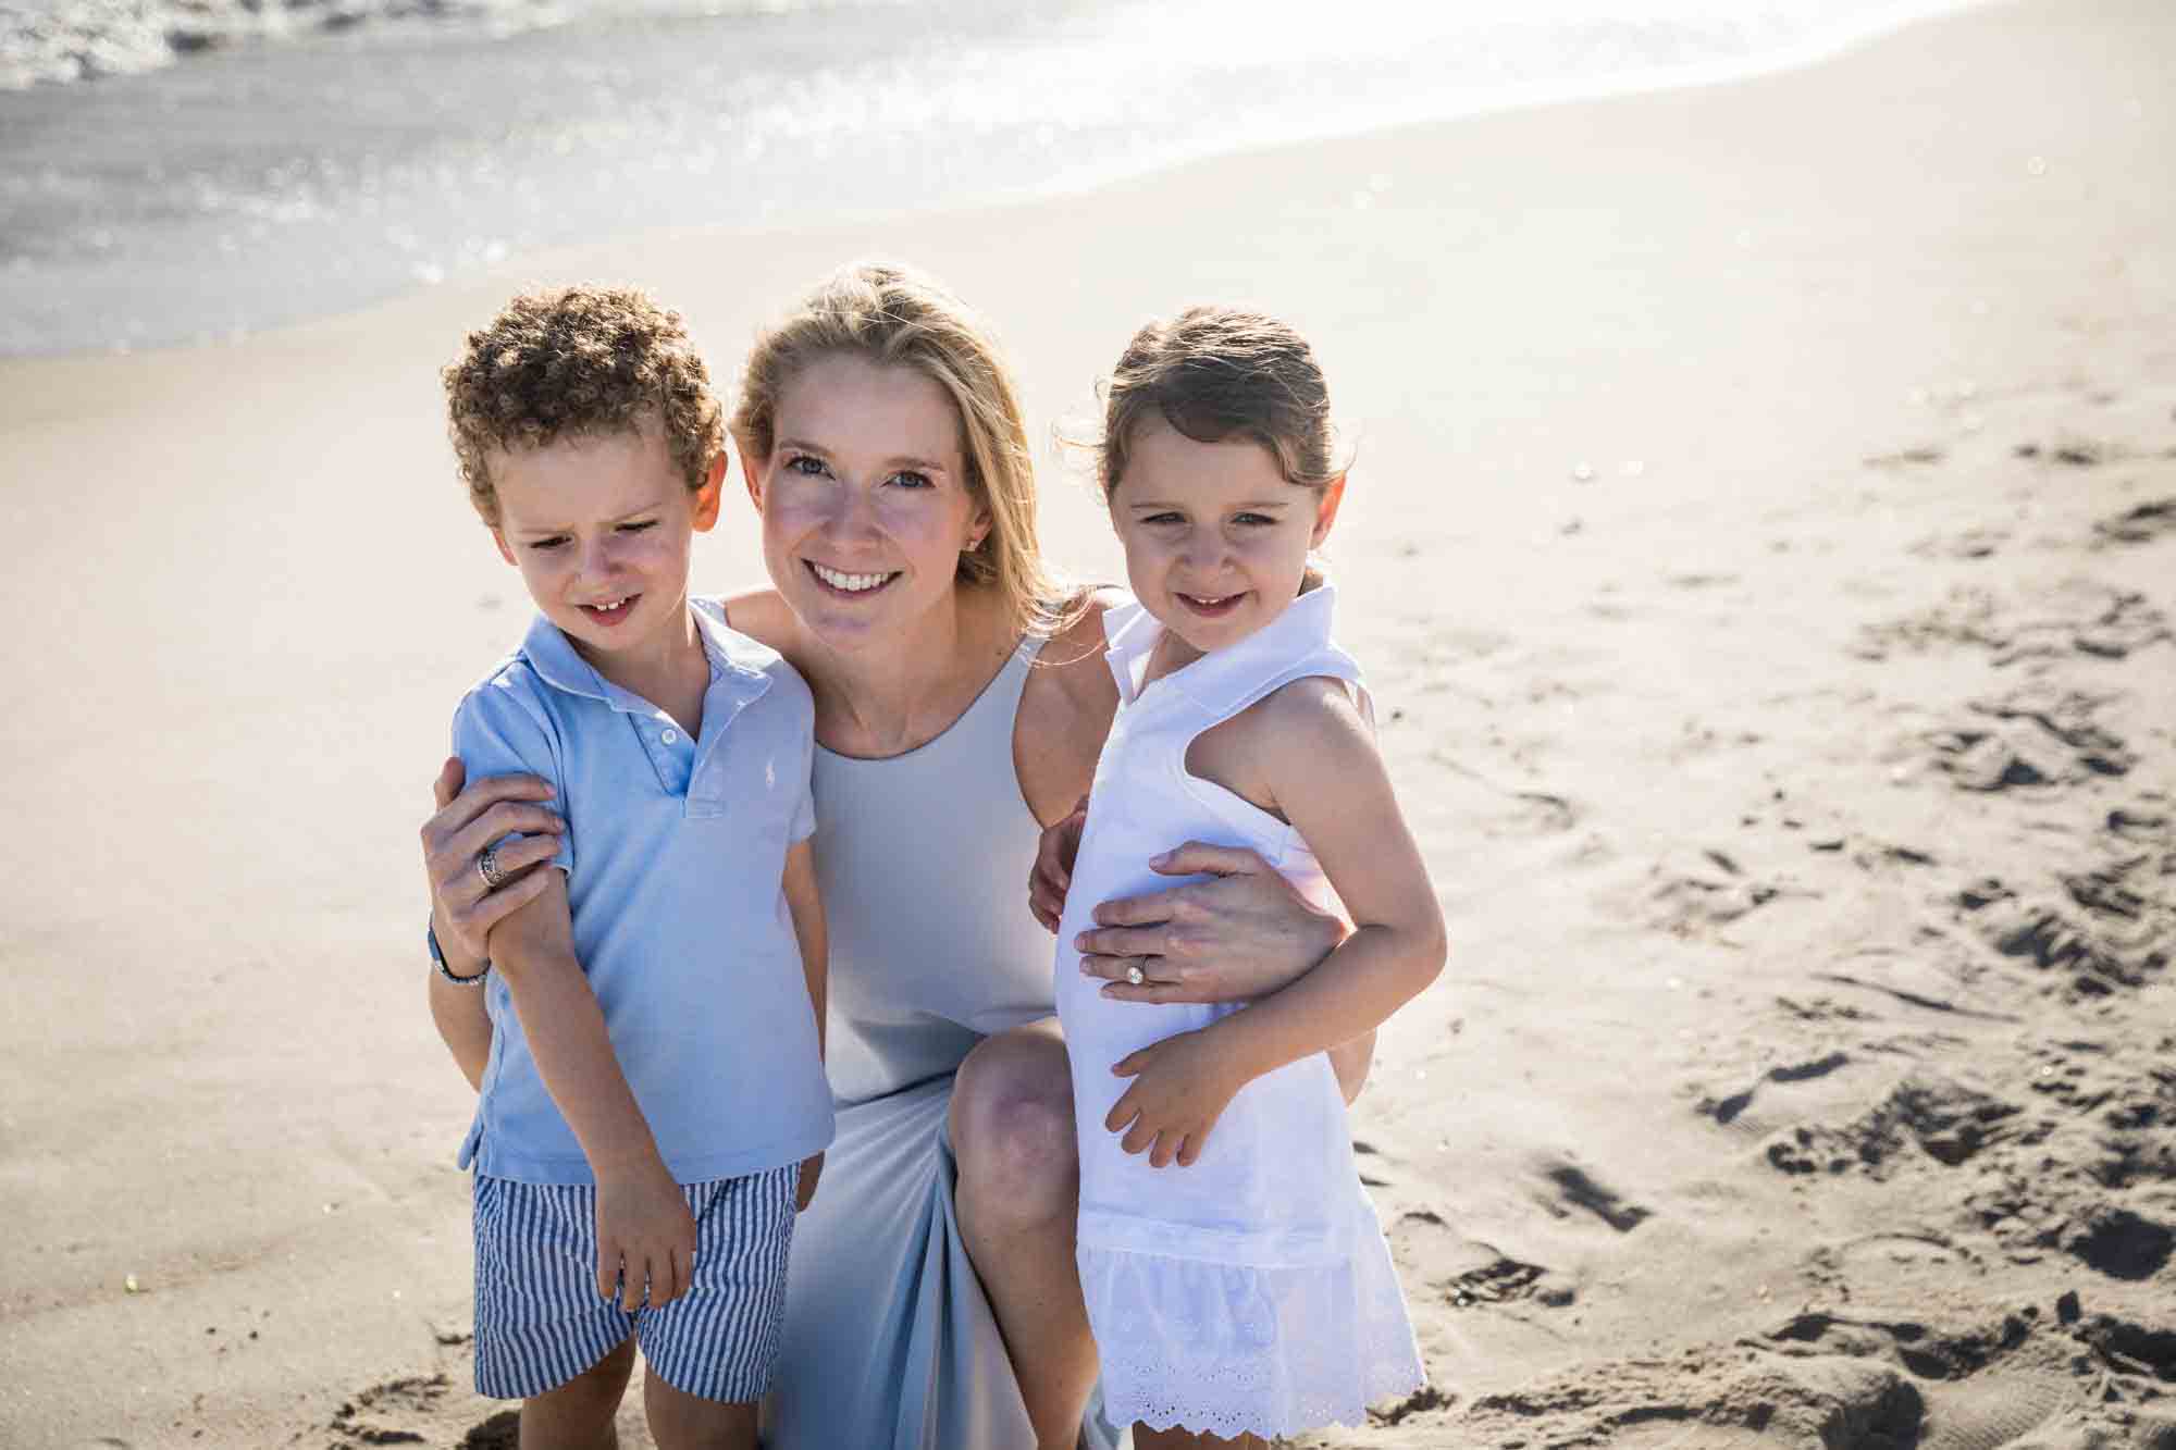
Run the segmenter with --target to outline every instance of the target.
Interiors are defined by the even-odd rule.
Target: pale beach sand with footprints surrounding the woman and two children
[[[0,1443],[505,1443],[416,827],[524,601],[435,370],[598,277],[729,377],[862,253],[997,318],[1038,429],[1208,296],[1356,425],[1343,636],[1454,949],[1353,1130],[1434,1389],[1306,1443],[2176,1443],[2172,59],[2159,0],[2035,0],[0,364]]]

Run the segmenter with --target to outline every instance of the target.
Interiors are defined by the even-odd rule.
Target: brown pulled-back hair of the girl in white
[[[1262,311],[1188,307],[1134,333],[1103,383],[1103,499],[1125,477],[1134,435],[1151,416],[1195,442],[1258,442],[1299,488],[1323,490],[1351,462],[1338,455],[1314,348]]]

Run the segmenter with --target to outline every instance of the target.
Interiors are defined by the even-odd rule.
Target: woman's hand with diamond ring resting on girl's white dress
[[[1149,864],[1214,880],[1095,908],[1097,925],[1075,938],[1081,971],[1110,982],[1103,995],[1116,1002],[1251,1002],[1345,941],[1345,921],[1316,910],[1253,851],[1190,840]]]

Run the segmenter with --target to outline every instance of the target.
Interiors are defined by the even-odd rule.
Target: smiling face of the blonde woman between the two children
[[[960,411],[925,372],[823,357],[779,392],[770,457],[751,457],[764,564],[831,649],[897,638],[951,605],[988,512],[966,488]]]

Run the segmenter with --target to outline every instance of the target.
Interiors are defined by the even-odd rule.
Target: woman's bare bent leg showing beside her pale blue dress
[[[1095,1339],[1073,1265],[1079,1152],[1058,1019],[1001,1032],[953,1082],[953,1208],[1005,1335],[1042,1450],[1073,1450],[1095,1387]]]

